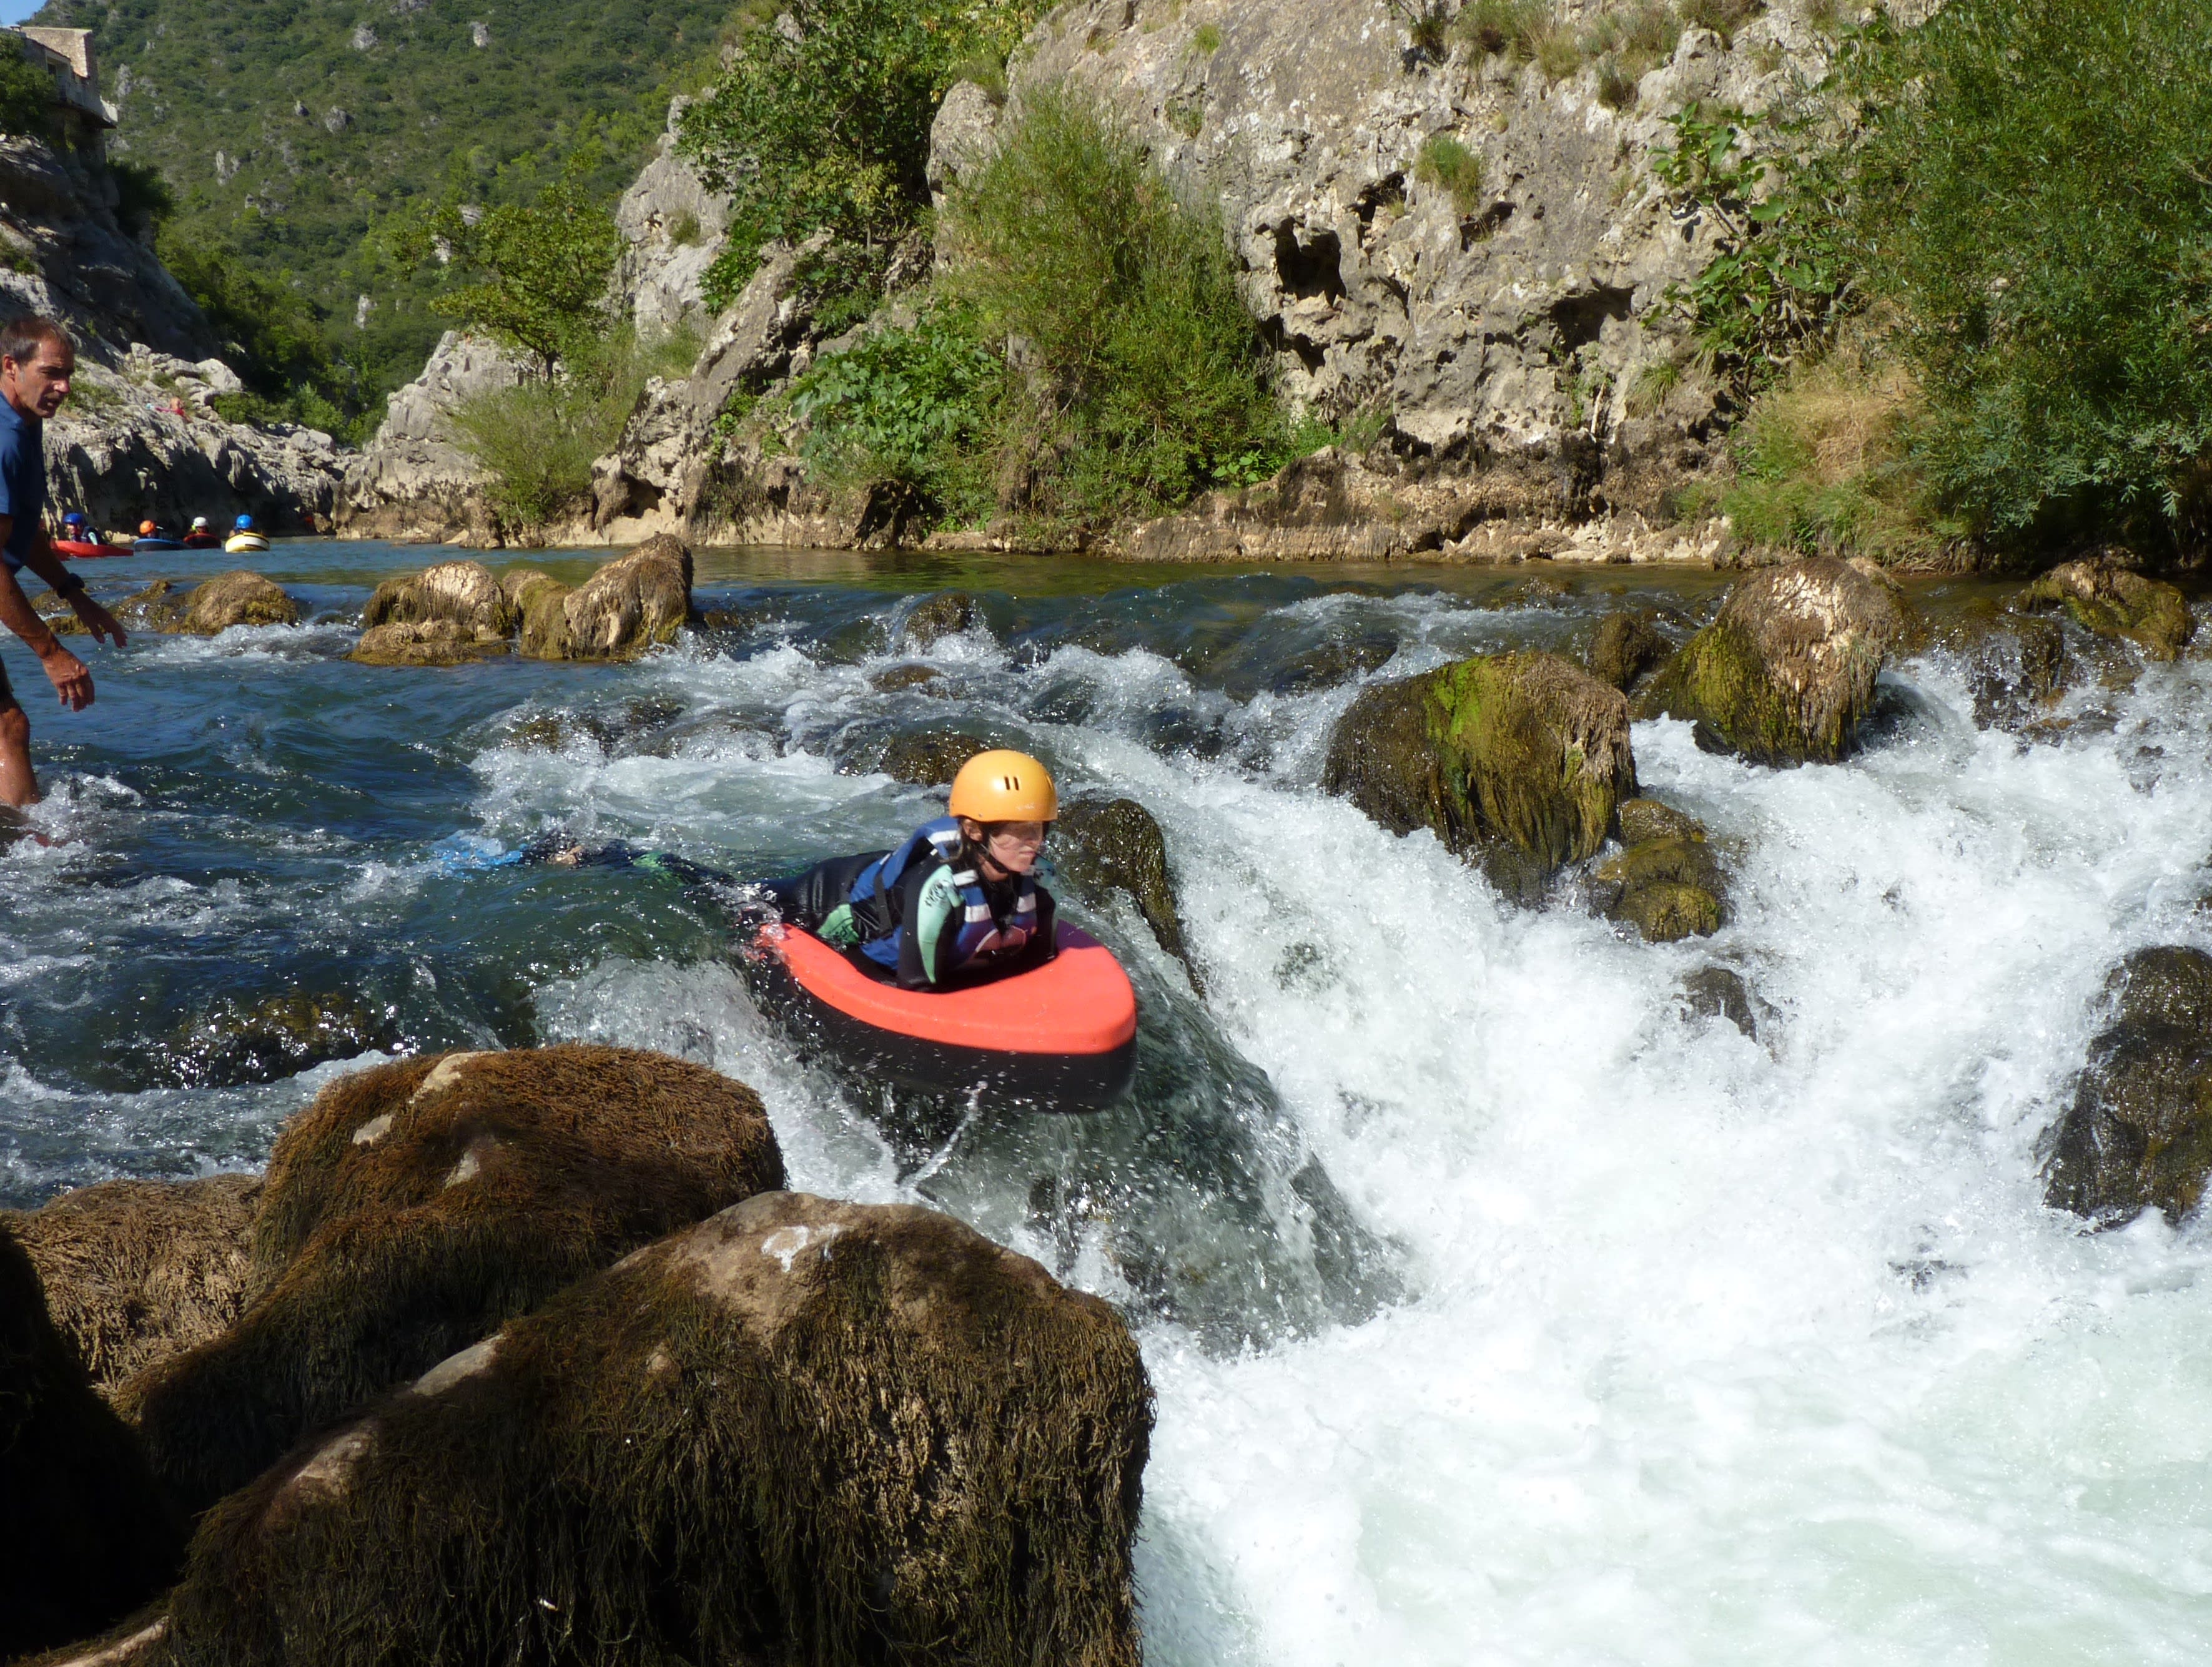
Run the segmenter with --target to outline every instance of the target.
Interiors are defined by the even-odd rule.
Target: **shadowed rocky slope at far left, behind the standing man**
[[[0,314],[40,312],[77,338],[77,387],[46,424],[55,515],[97,526],[254,515],[327,526],[343,449],[319,429],[226,422],[243,385],[223,343],[155,252],[117,219],[106,168],[38,139],[0,139]]]

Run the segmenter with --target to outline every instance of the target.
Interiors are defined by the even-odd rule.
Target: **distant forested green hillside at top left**
[[[712,64],[730,0],[53,0],[91,29],[150,168],[161,254],[257,360],[263,394],[374,420],[445,327],[438,274],[385,232],[458,192],[518,201],[580,141],[613,199]],[[166,188],[166,192],[164,192]],[[161,203],[161,197],[168,203]],[[363,303],[367,296],[367,303]],[[323,411],[325,420],[330,413]]]

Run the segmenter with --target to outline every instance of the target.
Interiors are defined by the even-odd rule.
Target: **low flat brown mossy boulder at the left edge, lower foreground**
[[[261,1178],[102,1181],[44,1209],[0,1214],[38,1267],[53,1324],[113,1393],[219,1338],[246,1311]]]

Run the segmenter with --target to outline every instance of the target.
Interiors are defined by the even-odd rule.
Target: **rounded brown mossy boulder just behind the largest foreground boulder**
[[[268,1289],[122,1406],[204,1508],[584,1273],[781,1185],[759,1097],[661,1055],[531,1048],[345,1077],[270,1156],[252,1243]]]

